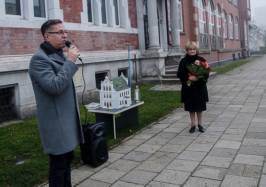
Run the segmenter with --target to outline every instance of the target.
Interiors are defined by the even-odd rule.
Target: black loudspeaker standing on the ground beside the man
[[[84,144],[80,144],[82,165],[100,166],[108,158],[108,147],[103,122],[82,125]]]

